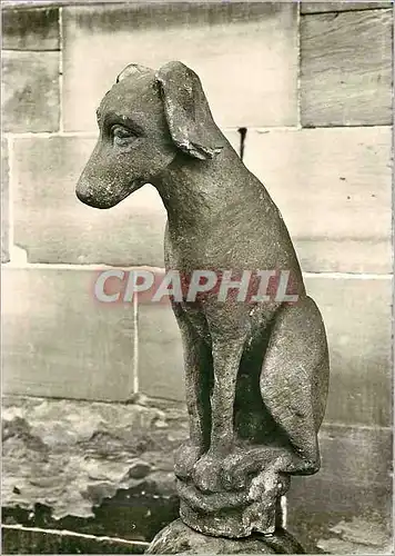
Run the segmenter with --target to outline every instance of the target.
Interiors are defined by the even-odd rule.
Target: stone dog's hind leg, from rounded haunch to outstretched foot
[[[261,395],[277,433],[223,463],[227,488],[241,488],[251,474],[310,475],[320,468],[317,431],[328,389],[328,351],[321,314],[312,299],[284,305],[272,328],[262,365]],[[280,475],[278,475],[280,474]],[[265,479],[266,480],[266,479]],[[284,479],[280,479],[282,483]]]

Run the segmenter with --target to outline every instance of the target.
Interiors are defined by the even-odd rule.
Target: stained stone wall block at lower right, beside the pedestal
[[[295,477],[287,524],[307,552],[388,554],[392,537],[392,430],[325,425],[322,468]],[[364,548],[363,548],[364,547]]]

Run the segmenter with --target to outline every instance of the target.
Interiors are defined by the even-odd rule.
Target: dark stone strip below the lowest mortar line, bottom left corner
[[[144,554],[145,543],[4,526],[2,554]]]

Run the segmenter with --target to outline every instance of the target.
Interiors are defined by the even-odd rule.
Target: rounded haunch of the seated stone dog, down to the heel
[[[320,468],[317,431],[324,417],[330,376],[326,334],[310,297],[285,305],[272,330],[261,373],[262,399],[301,461],[288,473]]]

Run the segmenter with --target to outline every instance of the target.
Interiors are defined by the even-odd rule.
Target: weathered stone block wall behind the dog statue
[[[391,3],[26,4],[2,3],[8,552],[21,524],[17,552],[48,552],[42,529],[53,552],[59,529],[122,538],[122,552],[176,513],[171,450],[186,428],[175,320],[166,305],[103,307],[92,295],[104,266],[161,271],[164,209],[150,186],[109,211],[74,196],[115,76],[172,59],[200,75],[236,149],[246,128],[244,162],[278,205],[327,328],[323,469],[293,480],[290,527],[311,549],[381,552],[392,499]]]

